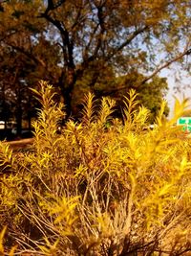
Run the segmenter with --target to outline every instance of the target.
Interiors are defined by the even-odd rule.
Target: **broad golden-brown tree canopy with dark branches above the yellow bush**
[[[171,63],[189,61],[189,9],[189,0],[3,1],[1,67],[11,71],[1,71],[2,87],[50,81],[68,116],[81,93],[144,87]],[[135,84],[114,82],[135,72],[142,78]]]

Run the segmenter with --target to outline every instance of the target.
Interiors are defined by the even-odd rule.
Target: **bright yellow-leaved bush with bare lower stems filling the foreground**
[[[0,144],[1,255],[190,255],[191,144],[173,127],[187,101],[171,121],[162,104],[150,129],[135,91],[123,124],[113,100],[97,106],[89,94],[81,122],[58,132],[53,86],[35,93],[43,108],[32,149]]]

